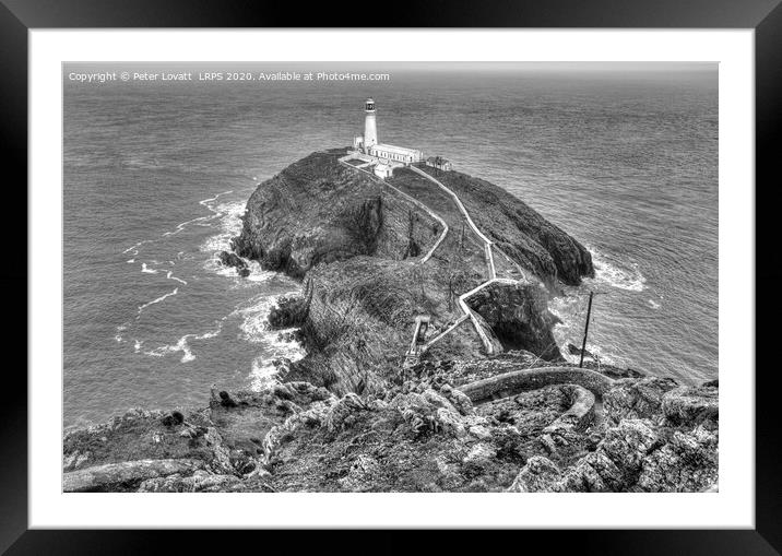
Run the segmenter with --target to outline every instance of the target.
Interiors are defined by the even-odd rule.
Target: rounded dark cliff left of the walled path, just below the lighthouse
[[[258,186],[234,250],[303,279],[319,263],[362,255],[401,260],[434,242],[437,221],[342,166],[343,154],[312,153]]]

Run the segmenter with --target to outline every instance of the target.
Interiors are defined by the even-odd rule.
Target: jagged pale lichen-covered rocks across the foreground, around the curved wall
[[[506,366],[522,360],[505,358]],[[476,404],[470,388],[445,380],[460,368],[419,365],[377,394],[337,397],[288,382],[215,390],[204,410],[129,412],[67,435],[63,487],[701,492],[716,484],[718,414],[704,410],[715,387],[606,377],[602,398],[615,402],[597,415],[594,393],[568,379]]]

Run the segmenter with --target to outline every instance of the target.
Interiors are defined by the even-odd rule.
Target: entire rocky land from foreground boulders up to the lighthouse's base
[[[220,255],[301,282],[269,324],[307,355],[262,391],[69,433],[64,490],[715,488],[716,381],[562,357],[548,299],[594,274],[578,240],[482,179],[359,166],[345,149],[292,164]]]

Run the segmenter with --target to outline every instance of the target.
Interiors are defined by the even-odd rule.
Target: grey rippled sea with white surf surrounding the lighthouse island
[[[158,71],[161,67],[131,64]],[[128,67],[129,69],[131,67]],[[323,64],[168,64],[319,71]],[[259,181],[363,131],[450,158],[591,251],[594,280],[552,310],[562,351],[683,382],[718,375],[716,66],[615,69],[387,64],[383,82],[78,83],[64,91],[66,426],[128,407],[200,405],[301,357],[265,327],[296,292],[215,262]]]

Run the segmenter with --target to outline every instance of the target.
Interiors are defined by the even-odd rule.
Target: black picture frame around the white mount
[[[781,0],[493,0],[396,3],[396,9],[372,20],[353,20],[333,3],[227,2],[225,0],[0,0],[0,156],[4,197],[12,206],[27,204],[27,32],[35,28],[91,27],[612,27],[612,28],[753,28],[756,48],[756,529],[704,531],[580,531],[524,532],[540,537],[550,549],[566,548],[601,554],[782,554],[782,478],[775,367],[768,346],[774,345],[773,326],[765,316],[779,314],[782,272],[777,262],[777,230],[771,211],[778,181],[782,129],[782,5]],[[10,176],[14,176],[11,178]],[[27,229],[26,211],[3,216],[7,236]],[[20,221],[15,221],[19,218]],[[24,227],[22,227],[24,226]],[[54,239],[59,240],[59,238]],[[27,338],[26,304],[16,293],[27,289],[27,253],[9,253],[0,270],[7,292],[9,327],[7,350],[13,352]],[[11,263],[11,259],[13,259]],[[56,263],[57,261],[55,261]],[[14,292],[10,294],[10,292]],[[26,297],[26,296],[25,296]],[[20,305],[19,310],[13,303]],[[17,315],[25,315],[25,326]],[[770,319],[768,322],[772,322]],[[23,338],[24,336],[24,338]],[[26,343],[26,342],[25,342]],[[19,350],[16,350],[19,351]],[[25,358],[26,359],[26,358]],[[7,359],[10,360],[10,359]],[[25,362],[26,363],[26,362]],[[26,367],[26,365],[25,365]],[[22,365],[5,365],[5,395],[0,403],[0,553],[5,554],[140,554],[164,549],[151,532],[40,531],[27,527],[27,381]],[[52,377],[58,376],[52,369]],[[96,500],[97,501],[97,500]],[[268,533],[263,533],[266,535]],[[520,532],[512,532],[520,534]],[[201,543],[196,532],[190,542]],[[552,539],[556,537],[556,546]],[[239,535],[237,539],[240,539]],[[329,543],[329,535],[321,542]],[[445,542],[445,541],[443,541]],[[451,543],[462,544],[459,534]],[[494,542],[502,542],[496,537]],[[518,542],[513,540],[512,542]],[[572,543],[572,545],[571,545]],[[179,551],[185,544],[177,540]],[[264,545],[266,542],[264,541]],[[372,551],[400,552],[400,541],[379,533]],[[534,545],[530,545],[534,546]],[[229,548],[229,547],[228,547]],[[440,549],[445,549],[442,545]]]

